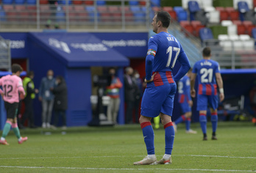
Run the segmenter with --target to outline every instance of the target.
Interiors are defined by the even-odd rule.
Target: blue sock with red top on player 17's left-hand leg
[[[154,130],[152,128],[151,122],[142,122],[141,129],[143,132],[148,155],[154,155]]]

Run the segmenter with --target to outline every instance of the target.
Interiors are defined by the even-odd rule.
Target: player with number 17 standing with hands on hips
[[[168,33],[170,22],[171,16],[164,11],[157,12],[152,21],[153,32],[157,34],[149,39],[145,78],[147,87],[143,93],[139,119],[148,155],[142,161],[135,162],[135,165],[171,163],[175,135],[171,122],[176,92],[175,82],[185,76],[191,65],[182,45]],[[172,71],[177,61],[181,67],[176,76],[173,76]],[[150,122],[152,117],[158,115],[166,132],[166,152],[160,161],[157,161],[154,154],[154,130]]]

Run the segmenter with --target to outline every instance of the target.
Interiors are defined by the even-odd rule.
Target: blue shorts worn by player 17
[[[176,89],[176,83],[146,88],[141,100],[141,115],[157,117],[162,112],[171,116]]]

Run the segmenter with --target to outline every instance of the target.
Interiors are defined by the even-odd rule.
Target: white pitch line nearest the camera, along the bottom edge
[[[38,166],[0,166],[0,168],[20,168],[20,169],[90,169],[90,170],[160,170],[160,171],[208,171],[208,172],[256,172],[253,170],[228,170],[228,169],[129,169],[129,168],[79,168],[79,167],[38,167]]]

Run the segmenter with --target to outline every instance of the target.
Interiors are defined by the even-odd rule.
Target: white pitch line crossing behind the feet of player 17
[[[162,156],[162,155],[157,155]],[[188,157],[211,157],[211,158],[248,158],[248,159],[256,159],[256,157],[236,157],[236,156],[227,156],[227,155],[172,155],[172,157],[180,157],[180,156],[188,156]],[[38,158],[0,158],[0,160],[18,160],[18,159],[47,159],[47,158],[124,158],[124,157],[145,157],[145,155],[102,155],[102,156],[74,156],[74,157],[38,157]]]

